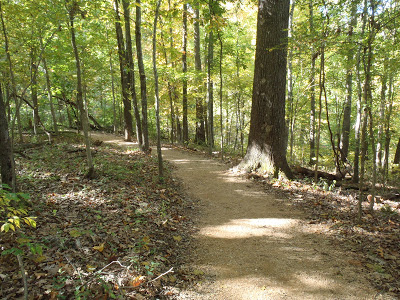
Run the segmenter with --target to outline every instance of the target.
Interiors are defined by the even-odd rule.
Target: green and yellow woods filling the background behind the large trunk
[[[156,138],[156,5],[2,1],[1,88],[14,140],[80,128],[85,107],[92,129],[125,132],[146,150]],[[243,156],[256,2],[160,5],[161,137]],[[291,3],[283,133],[291,165],[386,182],[399,162],[398,10],[394,1]]]

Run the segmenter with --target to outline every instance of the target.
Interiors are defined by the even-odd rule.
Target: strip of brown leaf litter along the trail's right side
[[[335,186],[324,180],[315,184],[307,178],[276,180],[256,173],[247,178],[305,211],[309,223],[319,225],[321,234],[331,237],[337,247],[356,254],[357,259],[348,263],[362,267],[377,290],[400,297],[400,202],[393,200],[393,195],[399,194],[396,188],[377,190],[372,214],[365,196],[362,219],[358,222],[359,192],[345,185]]]

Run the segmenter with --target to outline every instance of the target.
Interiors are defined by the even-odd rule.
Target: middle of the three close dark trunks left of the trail
[[[125,20],[125,39],[126,39],[126,63],[127,63],[127,87],[131,92],[132,104],[133,104],[133,112],[135,114],[136,121],[136,136],[139,144],[139,148],[142,148],[143,145],[143,136],[142,136],[142,124],[140,121],[140,112],[137,103],[136,96],[136,87],[135,87],[135,69],[133,64],[133,51],[132,51],[132,37],[131,37],[131,17],[130,17],[130,9],[129,9],[130,0],[123,0],[122,5],[124,8],[124,20]]]

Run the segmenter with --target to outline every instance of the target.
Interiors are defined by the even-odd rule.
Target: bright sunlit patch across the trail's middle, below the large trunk
[[[218,226],[206,226],[200,229],[199,234],[207,237],[222,239],[249,238],[269,236],[288,239],[292,234],[287,232],[299,224],[296,219],[235,219]]]

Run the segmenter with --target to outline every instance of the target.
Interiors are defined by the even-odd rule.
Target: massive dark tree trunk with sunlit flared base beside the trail
[[[247,153],[239,168],[292,172],[286,161],[285,87],[289,0],[260,0]]]

